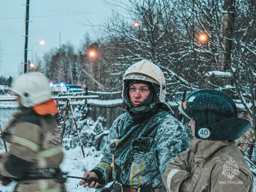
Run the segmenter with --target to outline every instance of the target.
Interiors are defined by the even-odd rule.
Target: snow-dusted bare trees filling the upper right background
[[[130,65],[151,60],[164,71],[169,100],[184,100],[179,91],[221,89],[241,102],[256,131],[255,1],[106,3],[114,11],[102,26],[102,47],[119,85]]]

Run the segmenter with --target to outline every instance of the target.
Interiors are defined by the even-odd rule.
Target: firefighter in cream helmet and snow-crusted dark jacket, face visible
[[[188,149],[183,125],[165,103],[166,85],[161,69],[141,60],[127,69],[122,97],[127,112],[117,117],[103,148],[103,157],[84,177],[114,181],[115,192],[164,192],[161,175],[168,162]],[[80,185],[97,188],[94,181]],[[108,189],[108,190],[111,190]]]

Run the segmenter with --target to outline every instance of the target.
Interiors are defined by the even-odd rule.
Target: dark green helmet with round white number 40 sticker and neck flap
[[[204,140],[235,140],[251,127],[250,121],[237,118],[235,102],[219,90],[193,92],[179,110],[196,122],[195,136]]]

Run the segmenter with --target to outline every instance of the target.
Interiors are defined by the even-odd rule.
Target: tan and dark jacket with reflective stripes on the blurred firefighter
[[[9,128],[12,133],[7,141],[11,145],[0,159],[0,174],[18,180],[14,191],[65,192],[64,184],[55,179],[19,180],[26,176],[28,169],[59,168],[63,152],[52,115],[41,116],[27,108],[14,115]]]

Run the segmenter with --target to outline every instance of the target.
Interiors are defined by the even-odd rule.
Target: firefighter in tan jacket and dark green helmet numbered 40
[[[202,89],[190,94],[180,112],[191,119],[190,149],[176,156],[162,176],[169,192],[252,192],[253,175],[235,140],[251,123],[237,118],[226,93]]]

